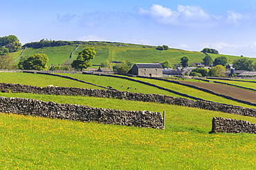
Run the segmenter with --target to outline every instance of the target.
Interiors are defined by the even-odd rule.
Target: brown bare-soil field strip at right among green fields
[[[228,85],[219,85],[214,83],[201,83],[192,81],[179,81],[180,83],[185,83],[189,85],[195,85],[203,89],[209,89],[212,92],[237,98],[240,100],[245,100],[251,103],[256,103],[256,92],[252,92],[246,89],[239,89],[237,87],[231,87]]]

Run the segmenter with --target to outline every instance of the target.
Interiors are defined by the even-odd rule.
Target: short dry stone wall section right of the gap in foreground
[[[235,120],[231,118],[212,118],[211,133],[249,133],[256,134],[256,124],[244,120]]]

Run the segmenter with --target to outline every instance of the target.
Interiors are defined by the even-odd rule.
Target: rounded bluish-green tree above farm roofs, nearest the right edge
[[[247,71],[253,71],[253,61],[242,58],[242,59],[237,59],[233,63],[233,67],[235,67],[235,70],[247,70]]]

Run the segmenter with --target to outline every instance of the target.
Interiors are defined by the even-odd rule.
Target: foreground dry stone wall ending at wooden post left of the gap
[[[0,97],[0,112],[79,120],[104,124],[164,129],[161,113],[153,111],[123,111],[84,105],[59,104],[27,98]]]

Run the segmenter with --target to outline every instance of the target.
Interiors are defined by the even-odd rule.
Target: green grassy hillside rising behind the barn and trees
[[[64,45],[58,47],[41,47],[41,48],[32,48],[28,47],[24,52],[24,56],[30,56],[33,54],[44,53],[46,54],[50,61],[48,65],[51,64],[63,64],[69,59],[69,56],[78,43],[71,45]],[[180,59],[183,56],[188,56],[190,58],[189,63],[201,62],[205,56],[201,52],[190,52],[185,50],[178,49],[169,49],[169,50],[156,50],[154,46],[148,45],[135,45],[135,44],[126,44],[126,43],[107,43],[107,42],[84,42],[80,47],[75,50],[72,59],[76,59],[78,52],[84,47],[95,47],[97,52],[95,59],[91,61],[92,64],[100,64],[104,61],[126,61],[131,60],[135,63],[161,63],[169,60],[172,65],[180,63]],[[13,58],[17,58],[16,52],[13,55]],[[227,56],[222,54],[209,54],[212,59],[217,58],[218,56]],[[16,57],[16,58],[15,58]],[[235,59],[241,58],[240,56],[227,56],[228,63],[232,63]],[[256,58],[252,59],[256,61]],[[17,61],[19,62],[19,61]]]

